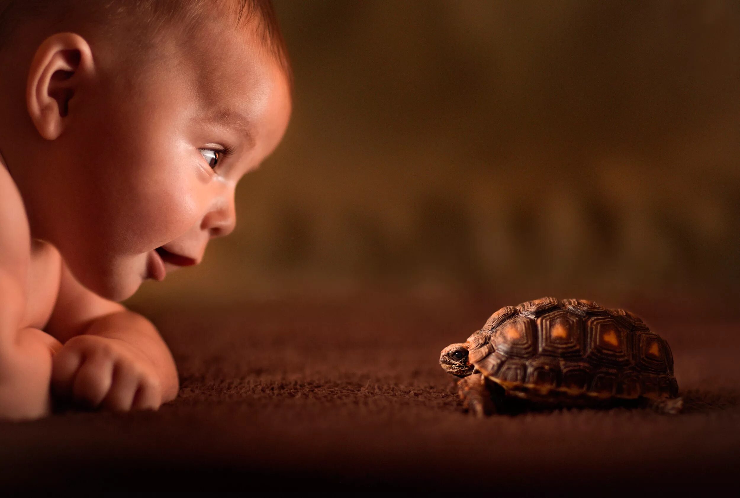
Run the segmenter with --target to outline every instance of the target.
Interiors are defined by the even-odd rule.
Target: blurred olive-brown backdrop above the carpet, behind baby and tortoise
[[[738,2],[275,7],[286,138],[235,233],[132,302],[740,295]]]

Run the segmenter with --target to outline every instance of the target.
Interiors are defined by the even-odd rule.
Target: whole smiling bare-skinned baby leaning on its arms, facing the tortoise
[[[118,301],[201,262],[282,139],[272,6],[0,0],[0,68],[0,419],[158,409],[175,362]]]

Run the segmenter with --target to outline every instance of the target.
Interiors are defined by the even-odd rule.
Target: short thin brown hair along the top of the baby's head
[[[216,4],[232,7],[237,24],[256,22],[263,47],[280,63],[292,85],[288,50],[271,0],[0,0],[0,50],[32,18],[43,18],[51,28],[63,30],[83,23],[129,26],[129,21],[151,34],[166,25],[193,26],[212,13]]]

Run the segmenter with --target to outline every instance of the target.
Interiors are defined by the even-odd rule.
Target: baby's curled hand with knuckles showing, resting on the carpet
[[[121,339],[76,335],[54,356],[53,392],[90,408],[156,410],[162,404],[152,361]]]

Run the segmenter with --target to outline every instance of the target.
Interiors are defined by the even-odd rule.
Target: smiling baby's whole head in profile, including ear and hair
[[[164,278],[158,254],[195,264],[233,230],[235,186],[291,110],[267,0],[0,0],[0,74],[33,236],[115,301]]]

